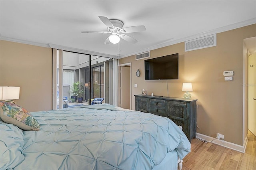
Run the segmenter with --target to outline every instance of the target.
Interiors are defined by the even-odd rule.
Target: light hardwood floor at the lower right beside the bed
[[[248,138],[245,153],[192,139],[182,170],[256,170],[256,137],[248,131]]]

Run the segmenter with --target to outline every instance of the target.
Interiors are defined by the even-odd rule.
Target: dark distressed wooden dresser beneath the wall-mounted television
[[[168,117],[176,125],[183,127],[182,131],[191,142],[192,138],[196,138],[196,101],[197,99],[135,95],[135,110]]]

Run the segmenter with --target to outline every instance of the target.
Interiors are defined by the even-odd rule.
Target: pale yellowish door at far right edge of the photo
[[[256,136],[256,53],[248,57],[248,129]]]

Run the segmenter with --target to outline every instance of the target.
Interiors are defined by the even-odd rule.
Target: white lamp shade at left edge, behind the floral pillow
[[[13,100],[20,98],[20,87],[0,86],[0,100]]]

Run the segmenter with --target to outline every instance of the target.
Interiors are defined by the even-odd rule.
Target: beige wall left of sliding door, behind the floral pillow
[[[1,40],[0,85],[19,86],[29,112],[52,109],[52,49]]]

